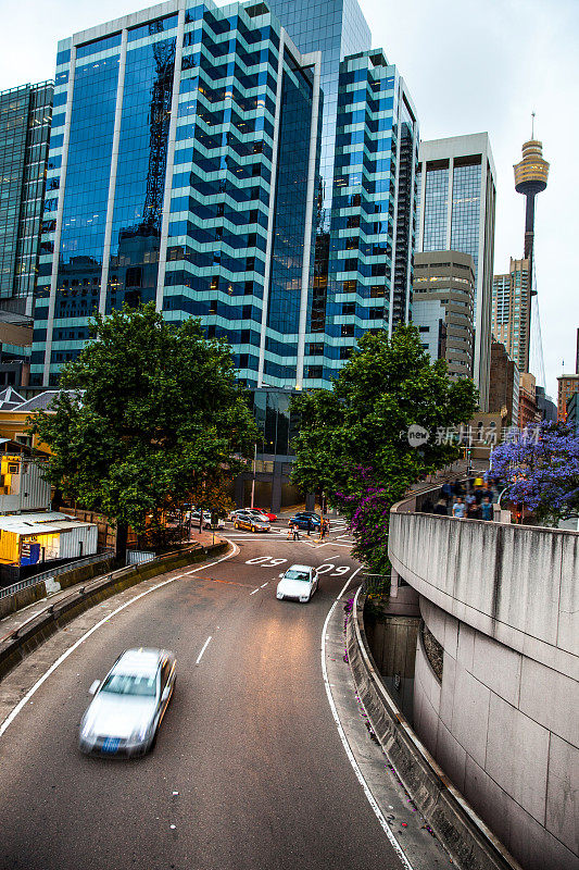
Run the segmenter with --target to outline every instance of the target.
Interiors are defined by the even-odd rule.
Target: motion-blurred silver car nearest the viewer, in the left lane
[[[175,687],[175,656],[166,649],[127,649],[95,695],[80,722],[80,751],[144,755],[153,746]]]

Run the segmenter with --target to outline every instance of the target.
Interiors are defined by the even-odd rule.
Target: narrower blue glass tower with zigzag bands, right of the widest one
[[[408,316],[416,233],[418,125],[380,51],[340,66],[324,377],[367,330]]]

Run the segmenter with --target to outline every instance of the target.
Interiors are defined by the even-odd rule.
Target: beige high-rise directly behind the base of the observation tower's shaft
[[[519,372],[529,371],[531,282],[529,260],[513,260],[505,275],[492,281],[492,334],[516,360]]]

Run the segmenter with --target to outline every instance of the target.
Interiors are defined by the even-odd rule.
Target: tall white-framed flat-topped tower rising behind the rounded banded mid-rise
[[[489,399],[496,183],[487,133],[420,142],[417,251],[456,250],[475,262],[474,378]]]

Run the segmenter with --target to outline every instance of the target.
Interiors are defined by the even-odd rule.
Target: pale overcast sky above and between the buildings
[[[536,271],[546,387],[575,371],[579,287],[579,0],[361,0],[374,46],[408,85],[423,139],[488,130],[498,173],[494,272],[523,256],[524,197],[513,164],[530,136],[551,163],[538,197]],[[0,0],[0,89],[52,78],[56,40],[146,0]]]

